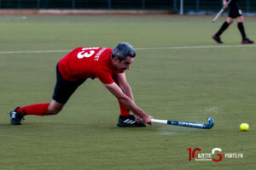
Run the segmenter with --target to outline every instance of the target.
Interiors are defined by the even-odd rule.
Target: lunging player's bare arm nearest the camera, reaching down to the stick
[[[105,87],[129,110],[131,110],[137,116],[140,116],[143,119],[143,122],[151,124],[152,116],[149,116],[142,109],[140,109],[132,99],[130,99],[126,94],[124,94],[119,88],[119,86],[113,82],[112,84],[105,84]]]

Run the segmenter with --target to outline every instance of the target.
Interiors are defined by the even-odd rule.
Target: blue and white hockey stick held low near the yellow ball
[[[168,124],[180,127],[194,127],[194,128],[203,128],[210,129],[214,125],[214,119],[212,117],[207,118],[209,123],[201,123],[201,122],[181,122],[181,121],[169,121],[169,120],[159,120],[159,119],[151,119],[151,122],[157,122],[161,124]]]

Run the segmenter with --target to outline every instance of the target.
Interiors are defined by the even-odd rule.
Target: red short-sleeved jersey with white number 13
[[[99,78],[104,84],[113,83],[114,71],[111,64],[111,48],[75,48],[59,63],[61,76],[68,81]]]

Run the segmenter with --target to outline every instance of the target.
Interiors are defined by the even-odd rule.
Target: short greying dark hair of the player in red
[[[117,56],[120,60],[126,59],[126,57],[135,57],[136,53],[134,48],[127,42],[120,42],[115,48],[113,48],[112,58]]]

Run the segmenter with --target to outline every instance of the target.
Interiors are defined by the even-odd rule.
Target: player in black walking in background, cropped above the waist
[[[231,2],[228,4],[226,0],[223,0],[224,8],[230,7],[230,12],[228,19],[224,22],[224,24],[220,27],[218,32],[212,36],[212,39],[214,39],[218,43],[223,43],[220,39],[220,35],[230,26],[230,24],[233,23],[234,19],[237,20],[237,27],[241,33],[241,43],[253,43],[252,40],[247,38],[245,29],[243,26],[243,16],[241,14],[240,9],[240,0],[231,0]]]

